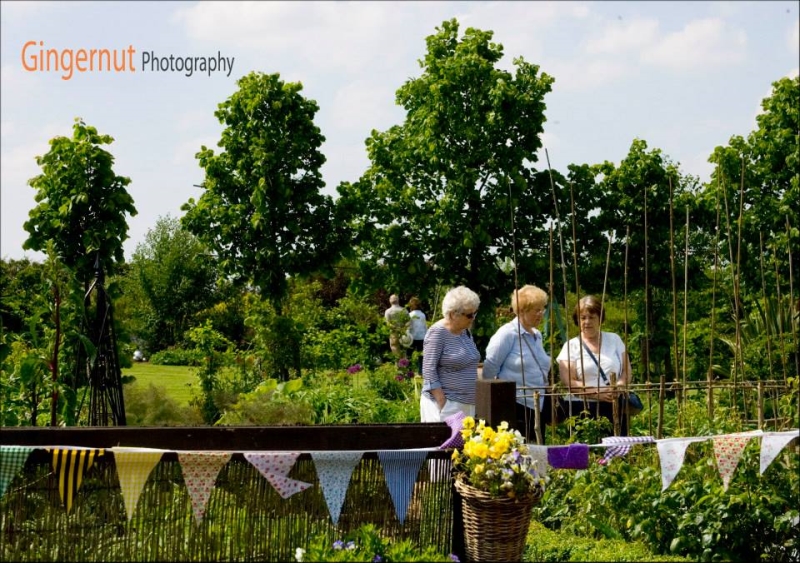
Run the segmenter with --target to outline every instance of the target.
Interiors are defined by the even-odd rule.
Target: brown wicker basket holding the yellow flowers
[[[524,497],[493,498],[461,478],[456,490],[464,499],[464,544],[469,561],[522,561],[533,506],[542,498],[536,489]]]

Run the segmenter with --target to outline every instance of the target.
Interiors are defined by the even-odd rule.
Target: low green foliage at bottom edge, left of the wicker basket
[[[331,542],[327,535],[314,537],[308,549],[298,548],[296,560],[302,561],[458,561],[454,555],[443,555],[432,547],[420,549],[410,540],[392,542],[382,537],[373,524],[364,524],[344,539]]]

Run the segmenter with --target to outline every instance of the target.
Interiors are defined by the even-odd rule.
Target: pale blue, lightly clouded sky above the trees
[[[756,128],[772,83],[797,76],[800,60],[798,1],[2,1],[0,11],[0,257],[36,261],[22,248],[36,206],[28,180],[76,117],[114,138],[104,148],[131,179],[130,258],[159,217],[202,195],[195,154],[219,150],[214,112],[242,76],[280,73],[317,102],[324,193],[336,197],[369,166],[371,131],[403,123],[395,93],[421,75],[425,38],[451,18],[459,35],[494,32],[500,68],[521,56],[555,78],[542,141],[562,172],[618,164],[638,138],[708,181],[714,148]],[[93,49],[116,67],[91,58],[90,70]],[[542,150],[536,168],[546,166]]]

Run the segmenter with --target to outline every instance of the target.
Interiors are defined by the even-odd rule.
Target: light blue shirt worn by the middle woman
[[[530,409],[534,408],[534,390],[523,391],[520,388],[538,388],[542,392],[539,396],[539,408],[541,409],[544,408],[543,393],[549,381],[550,356],[544,351],[542,333],[535,328],[532,330],[533,333],[525,330],[517,318],[497,329],[486,347],[483,378],[498,377],[505,381],[513,381],[517,384],[517,402]],[[523,368],[525,369],[524,377]]]

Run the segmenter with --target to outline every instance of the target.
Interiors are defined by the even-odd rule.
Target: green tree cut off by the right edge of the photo
[[[717,199],[722,202],[720,228],[730,236],[721,239],[720,258],[736,265],[744,292],[760,291],[762,258],[767,266],[777,261],[778,281],[788,280],[788,252],[800,246],[798,100],[800,77],[774,82],[756,116],[758,127],[746,139],[734,135],[709,157],[716,168],[705,186],[704,201],[709,208]],[[774,268],[765,267],[765,278],[766,290],[773,294]]]

